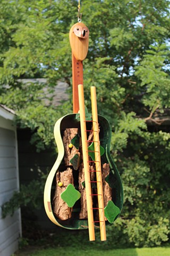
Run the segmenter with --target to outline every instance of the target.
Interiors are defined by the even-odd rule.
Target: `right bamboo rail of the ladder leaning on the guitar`
[[[102,181],[102,175],[101,175],[96,87],[91,86],[90,91],[91,91],[91,109],[92,109],[92,121],[93,121],[92,123],[93,123],[93,130],[94,130],[95,164],[96,164],[96,170],[99,171],[99,172],[96,172],[96,180],[97,180],[97,194],[98,194],[98,206],[99,206],[100,238],[101,238],[101,241],[106,241],[106,225],[105,225],[105,213],[104,213],[103,181]]]

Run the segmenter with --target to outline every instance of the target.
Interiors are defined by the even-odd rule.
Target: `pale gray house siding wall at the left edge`
[[[18,150],[13,115],[0,106],[0,206],[19,189]],[[0,255],[11,256],[21,235],[20,211],[2,219],[0,208]]]

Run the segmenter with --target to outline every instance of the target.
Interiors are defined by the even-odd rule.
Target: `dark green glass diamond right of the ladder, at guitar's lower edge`
[[[120,213],[120,209],[113,203],[113,201],[108,201],[105,207],[105,217],[108,222],[113,223],[117,215]]]

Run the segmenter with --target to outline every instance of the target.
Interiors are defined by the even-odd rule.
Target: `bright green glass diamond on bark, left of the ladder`
[[[65,191],[61,193],[61,198],[69,207],[73,207],[80,197],[80,192],[76,190],[72,184],[69,184]]]

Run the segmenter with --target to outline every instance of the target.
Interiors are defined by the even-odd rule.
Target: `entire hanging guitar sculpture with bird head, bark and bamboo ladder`
[[[122,182],[109,152],[111,126],[97,113],[94,86],[90,88],[92,114],[84,106],[82,61],[88,53],[89,29],[78,22],[69,37],[73,114],[60,118],[54,127],[58,156],[46,180],[44,205],[56,225],[88,228],[90,241],[95,240],[97,226],[105,241],[106,223],[114,222],[122,210]]]

